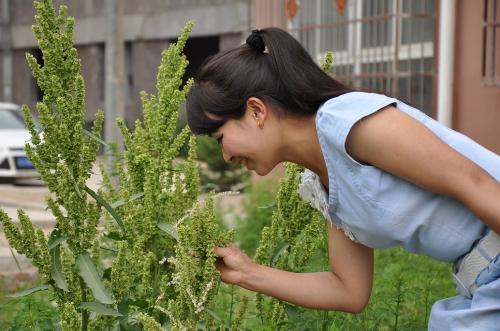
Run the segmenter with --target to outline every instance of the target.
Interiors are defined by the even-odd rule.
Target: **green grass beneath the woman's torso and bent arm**
[[[427,330],[432,304],[457,295],[449,272],[451,263],[406,252],[394,247],[375,250],[372,296],[360,314],[299,309],[283,329],[290,330]],[[249,330],[268,330],[253,304],[254,293],[231,285],[221,285],[217,314],[231,325],[241,297],[250,298],[243,326]]]

